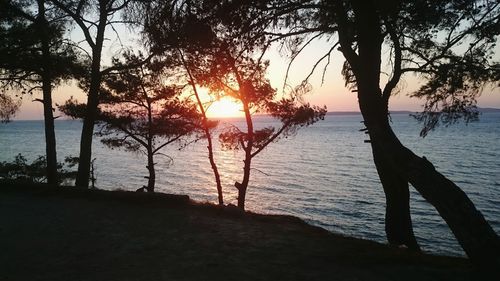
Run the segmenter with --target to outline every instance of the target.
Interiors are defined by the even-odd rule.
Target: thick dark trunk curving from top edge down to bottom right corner
[[[351,62],[355,65],[353,71],[358,86],[359,106],[372,145],[376,147],[377,156],[380,154],[388,164],[385,173],[409,181],[437,209],[473,262],[498,263],[500,241],[483,215],[457,185],[437,172],[425,158],[416,156],[404,147],[389,125],[388,97],[382,95],[379,86],[382,31],[380,19],[373,12],[375,9],[369,7],[370,3],[374,4],[371,1],[353,1],[358,57]],[[343,52],[349,51],[345,44],[342,48]],[[398,201],[403,199],[398,198]]]

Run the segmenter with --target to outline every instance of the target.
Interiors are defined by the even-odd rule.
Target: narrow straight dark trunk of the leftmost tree
[[[52,111],[52,75],[50,69],[50,46],[48,22],[45,18],[45,1],[38,0],[38,27],[42,46],[42,94],[43,117],[45,127],[45,154],[47,160],[47,183],[58,184],[56,135],[54,128],[54,114]]]

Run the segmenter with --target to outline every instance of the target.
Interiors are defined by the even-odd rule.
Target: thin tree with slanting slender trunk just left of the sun
[[[197,68],[200,52],[209,46],[213,34],[208,25],[201,19],[200,11],[195,11],[191,1],[146,1],[137,3],[135,13],[131,13],[134,21],[142,22],[143,34],[147,38],[147,47],[156,55],[177,57],[173,64],[179,67],[179,72],[185,72],[186,83],[192,89],[192,94],[198,110],[203,118],[203,131],[207,140],[207,151],[217,188],[218,203],[224,204],[222,184],[219,170],[214,159],[211,128],[214,127],[206,115],[210,102],[205,102],[199,93],[199,85],[193,77],[193,69]],[[144,17],[144,15],[148,15]]]

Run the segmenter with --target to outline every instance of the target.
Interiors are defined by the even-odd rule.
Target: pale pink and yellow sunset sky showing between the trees
[[[134,45],[137,44],[135,42],[140,40],[133,31],[127,28],[120,29],[119,33],[121,34],[122,42],[129,42],[129,44]],[[75,41],[79,41],[77,38],[81,36],[76,29],[73,30],[70,35]],[[108,35],[108,37],[109,36],[110,35]],[[307,77],[315,62],[328,51],[330,46],[331,43],[322,40],[316,41],[306,48],[292,63],[287,84],[291,86],[300,84],[301,81]],[[106,41],[106,47],[104,49],[105,58],[103,60],[104,65],[109,63],[109,59],[116,53],[117,48],[118,40],[110,39]],[[497,47],[497,50],[496,56],[500,58],[500,48]],[[286,69],[290,59],[281,55],[277,48],[273,48],[269,51],[265,58],[270,60],[268,77],[271,84],[279,93],[282,93]],[[356,93],[352,93],[344,86],[344,81],[340,74],[343,62],[344,59],[342,54],[339,51],[334,51],[331,56],[330,64],[326,68],[324,83],[321,81],[324,64],[320,64],[317,67],[310,79],[312,91],[304,96],[306,102],[318,106],[326,105],[328,111],[359,111]],[[411,74],[404,76],[399,85],[401,88],[399,94],[390,99],[389,109],[420,111],[423,101],[408,97],[408,94],[416,90],[420,83],[421,81],[416,76]],[[383,86],[383,84],[381,86]],[[53,100],[55,104],[62,104],[70,97],[74,97],[82,102],[86,101],[85,93],[77,87],[75,82],[70,81],[54,89]],[[23,97],[21,109],[16,114],[15,120],[43,119],[42,104],[33,101],[35,98],[39,98],[39,96]],[[500,108],[500,89],[486,89],[478,99],[478,106]],[[214,108],[217,107],[214,106]],[[56,116],[57,115],[60,114],[56,112]],[[217,116],[217,113],[212,112],[211,115]]]

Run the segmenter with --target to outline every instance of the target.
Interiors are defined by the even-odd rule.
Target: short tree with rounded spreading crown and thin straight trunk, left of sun
[[[182,88],[166,84],[168,71],[164,62],[140,65],[142,56],[125,54],[123,62],[114,60],[120,71],[103,78],[96,135],[110,148],[140,152],[147,157],[149,175],[146,189],[154,192],[156,171],[154,157],[176,141],[196,133],[201,116],[189,100],[179,99]],[[74,118],[82,118],[85,105],[70,100],[61,110]]]

